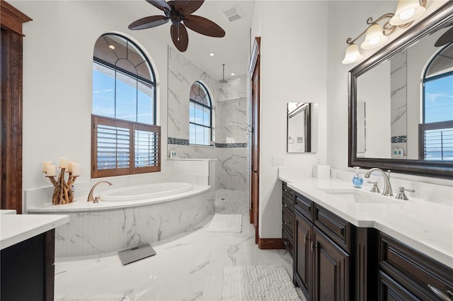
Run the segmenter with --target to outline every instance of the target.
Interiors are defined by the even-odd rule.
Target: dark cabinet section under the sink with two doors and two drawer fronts
[[[351,226],[295,194],[294,283],[307,300],[350,299]]]

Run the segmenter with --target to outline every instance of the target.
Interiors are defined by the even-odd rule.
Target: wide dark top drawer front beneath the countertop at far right
[[[453,269],[379,234],[379,268],[420,300],[443,300],[428,285],[453,299]]]

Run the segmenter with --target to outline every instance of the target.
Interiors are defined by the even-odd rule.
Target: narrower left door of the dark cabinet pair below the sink
[[[294,214],[294,278],[308,297],[311,292],[311,251],[310,236],[312,224],[299,212]],[[311,300],[311,298],[309,298]]]

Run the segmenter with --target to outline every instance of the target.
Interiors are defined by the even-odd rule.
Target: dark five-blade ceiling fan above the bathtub
[[[130,23],[128,28],[131,30],[153,28],[171,21],[171,40],[180,52],[187,50],[189,44],[189,36],[185,27],[210,37],[222,38],[225,36],[225,30],[219,25],[207,18],[192,14],[202,6],[205,0],[146,1],[164,11],[165,16],[144,17]]]

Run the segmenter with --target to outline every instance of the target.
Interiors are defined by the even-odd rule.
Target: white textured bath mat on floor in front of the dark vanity
[[[300,301],[283,266],[226,266],[222,301]]]

